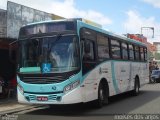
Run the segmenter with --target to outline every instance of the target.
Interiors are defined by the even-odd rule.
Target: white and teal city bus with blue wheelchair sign
[[[81,19],[26,25],[18,38],[17,96],[26,104],[94,101],[148,82],[147,47]]]

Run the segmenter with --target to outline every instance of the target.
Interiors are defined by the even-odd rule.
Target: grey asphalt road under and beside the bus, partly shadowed
[[[117,95],[110,98],[110,103],[101,109],[95,109],[92,104],[78,104],[65,106],[52,106],[39,110],[21,112],[19,115],[23,119],[116,119],[119,114],[159,114],[152,116],[160,119],[160,83],[147,84],[141,88],[138,96],[130,93]],[[134,116],[135,117],[135,116]],[[134,118],[130,116],[130,118]],[[140,118],[143,116],[139,116]],[[120,119],[120,118],[119,118]]]

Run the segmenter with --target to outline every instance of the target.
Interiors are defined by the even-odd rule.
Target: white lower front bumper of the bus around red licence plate
[[[44,98],[39,100],[38,98]],[[83,102],[83,97],[81,94],[81,87],[78,87],[66,94],[22,94],[22,92],[17,89],[17,98],[19,103],[23,104],[75,104]],[[45,99],[46,98],[46,99]]]

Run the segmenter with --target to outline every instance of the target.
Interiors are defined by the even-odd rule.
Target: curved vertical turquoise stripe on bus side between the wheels
[[[118,94],[119,93],[119,88],[118,88],[117,81],[116,81],[116,78],[115,78],[114,61],[111,61],[111,68],[112,68],[113,86],[114,86],[114,89],[116,91],[116,94]]]

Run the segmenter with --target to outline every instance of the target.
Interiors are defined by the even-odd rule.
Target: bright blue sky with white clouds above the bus
[[[142,33],[149,42],[160,42],[160,0],[10,1],[65,18],[85,18],[120,35]],[[0,0],[0,8],[7,9],[7,0]]]

